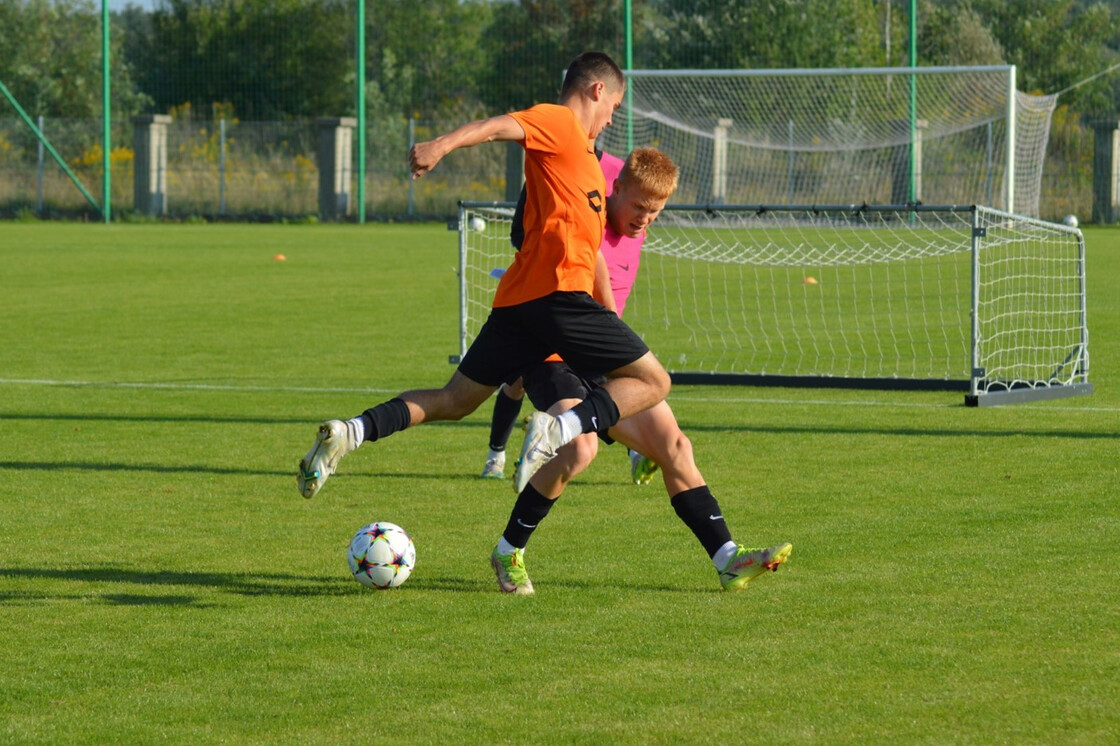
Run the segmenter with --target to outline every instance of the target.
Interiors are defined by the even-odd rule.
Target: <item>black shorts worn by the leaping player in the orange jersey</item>
[[[642,338],[586,292],[553,292],[516,306],[491,309],[459,372],[497,386],[559,354],[591,379],[629,365],[650,352]]]

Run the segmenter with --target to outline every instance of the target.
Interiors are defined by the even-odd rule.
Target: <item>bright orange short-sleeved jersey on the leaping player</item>
[[[590,295],[607,220],[607,183],[595,143],[567,106],[538,104],[510,115],[525,131],[525,239],[494,306],[558,290]]]

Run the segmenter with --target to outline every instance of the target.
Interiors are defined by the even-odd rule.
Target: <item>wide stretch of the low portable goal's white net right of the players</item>
[[[668,211],[626,320],[673,371],[962,382],[970,239],[968,211]]]

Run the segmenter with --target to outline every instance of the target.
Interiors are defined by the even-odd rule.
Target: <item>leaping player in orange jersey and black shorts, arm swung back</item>
[[[641,337],[591,297],[606,223],[606,181],[594,142],[622,105],[625,87],[609,56],[586,53],[569,65],[559,103],[469,122],[412,147],[409,164],[419,178],[456,149],[521,142],[524,242],[498,283],[489,318],[442,389],[407,391],[349,420],[319,426],[297,474],[305,497],[312,497],[339,459],[363,442],[427,421],[461,419],[501,383],[552,354],[580,375],[601,374],[606,382],[559,416],[534,412],[515,481],[519,492],[564,444],[664,400],[670,386],[664,367]]]

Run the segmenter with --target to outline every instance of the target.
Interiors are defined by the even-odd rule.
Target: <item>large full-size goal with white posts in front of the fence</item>
[[[628,71],[599,137],[681,167],[678,202],[990,205],[1038,214],[1056,96],[1015,66]]]

